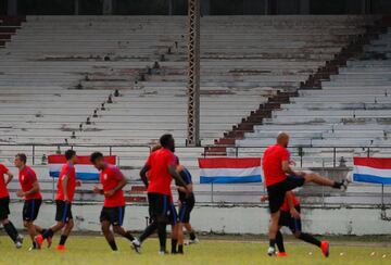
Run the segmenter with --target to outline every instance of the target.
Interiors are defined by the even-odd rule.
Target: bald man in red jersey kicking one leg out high
[[[270,256],[276,254],[276,234],[278,231],[280,207],[287,191],[301,187],[306,182],[342,190],[346,190],[349,185],[348,179],[335,181],[315,173],[294,172],[290,167],[290,154],[287,150],[288,143],[289,135],[279,132],[277,143],[268,147],[263,155],[263,172],[270,211],[269,248],[267,250],[267,254]]]

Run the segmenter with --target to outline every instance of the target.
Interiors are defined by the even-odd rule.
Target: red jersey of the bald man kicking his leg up
[[[282,162],[289,162],[289,151],[279,144],[268,147],[265,150],[262,167],[266,187],[278,184],[287,178],[286,173],[282,171]]]

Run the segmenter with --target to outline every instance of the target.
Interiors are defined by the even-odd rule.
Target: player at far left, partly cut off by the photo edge
[[[4,175],[8,176],[7,180],[4,179]],[[0,164],[0,224],[4,227],[4,230],[15,243],[16,249],[21,249],[23,244],[23,237],[18,235],[15,226],[8,218],[10,214],[10,194],[7,186],[12,179],[13,174],[10,169],[3,164]]]

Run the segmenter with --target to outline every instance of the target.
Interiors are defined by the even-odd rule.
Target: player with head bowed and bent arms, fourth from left
[[[125,216],[125,197],[123,188],[126,186],[126,178],[122,172],[115,166],[108,164],[104,156],[100,152],[94,152],[90,156],[91,163],[100,171],[100,182],[102,189],[99,187],[93,188],[93,192],[104,195],[104,204],[100,215],[100,223],[102,232],[113,251],[118,248],[115,243],[114,235],[110,230],[113,227],[115,234],[128,239],[135,240],[130,231],[123,228]]]

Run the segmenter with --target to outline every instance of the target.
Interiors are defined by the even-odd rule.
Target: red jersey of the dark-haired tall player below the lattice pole
[[[150,154],[146,162],[146,166],[150,167],[148,172],[148,193],[172,195],[171,184],[173,177],[168,172],[168,166],[176,165],[176,163],[174,153],[168,149],[162,148]]]

